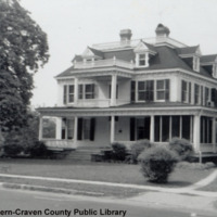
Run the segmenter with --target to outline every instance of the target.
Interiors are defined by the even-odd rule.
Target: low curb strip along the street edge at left
[[[0,183],[4,189],[15,189],[15,190],[28,190],[28,191],[41,191],[41,192],[51,192],[51,193],[62,193],[62,194],[76,194],[76,195],[89,195],[89,196],[104,196],[104,193],[97,193],[91,191],[78,191],[78,190],[68,190],[61,188],[50,188],[42,186],[30,186],[30,184],[17,184],[17,183]]]

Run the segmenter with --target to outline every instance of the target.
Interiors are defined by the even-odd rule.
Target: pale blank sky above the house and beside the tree
[[[162,23],[170,38],[200,44],[202,54],[217,53],[216,0],[20,0],[48,35],[50,60],[35,75],[31,104],[54,106],[54,77],[72,66],[87,46],[119,41],[119,30],[130,28],[132,39],[155,37]]]

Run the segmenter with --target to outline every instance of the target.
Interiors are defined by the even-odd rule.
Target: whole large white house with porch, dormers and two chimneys
[[[87,47],[55,77],[54,107],[40,107],[39,139],[50,149],[104,148],[149,139],[189,140],[196,152],[217,152],[217,54],[202,55],[169,37]],[[49,128],[50,127],[50,128]]]

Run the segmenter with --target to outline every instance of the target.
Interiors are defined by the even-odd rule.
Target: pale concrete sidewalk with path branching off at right
[[[39,176],[21,176],[21,175],[8,175],[0,174],[0,177],[4,178],[18,178],[18,179],[34,179],[34,180],[47,180],[47,181],[61,181],[67,183],[86,183],[86,184],[97,184],[97,186],[107,186],[107,187],[122,187],[122,188],[132,188],[150,191],[159,191],[165,193],[187,193],[201,196],[217,197],[216,192],[197,191],[196,189],[202,188],[210,183],[217,177],[217,169],[214,170],[209,176],[201,181],[184,188],[163,188],[163,187],[152,187],[152,186],[140,186],[130,183],[113,183],[104,181],[91,181],[91,180],[79,180],[79,179],[63,179],[63,178],[51,178],[51,177],[39,177]]]

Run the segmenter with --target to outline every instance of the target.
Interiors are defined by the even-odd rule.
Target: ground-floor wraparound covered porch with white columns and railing
[[[113,142],[122,142],[129,148],[138,140],[148,139],[162,144],[178,137],[189,140],[196,153],[217,152],[217,122],[207,111],[120,106],[88,110],[53,107],[40,108],[39,112],[39,139],[50,149],[103,149]],[[48,119],[53,123],[50,136],[44,130]]]

